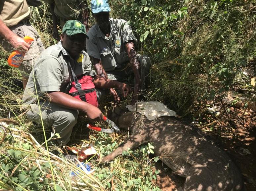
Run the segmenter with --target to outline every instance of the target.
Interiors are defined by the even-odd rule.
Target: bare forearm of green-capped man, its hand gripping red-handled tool
[[[60,105],[65,108],[82,111],[87,114],[88,118],[92,121],[102,121],[103,114],[98,107],[95,107],[85,101],[78,100],[71,95],[65,94],[63,92],[47,92],[47,100]]]

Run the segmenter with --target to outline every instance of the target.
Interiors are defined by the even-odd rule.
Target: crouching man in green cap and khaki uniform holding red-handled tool
[[[72,82],[69,66],[77,77],[93,76],[96,88],[116,87],[123,96],[130,91],[126,84],[95,75],[90,58],[83,50],[86,38],[85,26],[80,21],[67,21],[61,41],[47,48],[37,59],[23,95],[25,106],[30,106],[27,117],[33,122],[41,122],[42,117],[44,125],[52,125],[52,134],[59,133],[61,139],[57,141],[62,144],[69,141],[78,112],[86,113],[92,121],[103,119],[97,107],[68,94]]]

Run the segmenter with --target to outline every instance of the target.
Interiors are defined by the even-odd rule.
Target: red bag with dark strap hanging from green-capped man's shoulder
[[[81,85],[81,93],[83,94],[82,96],[79,95],[79,92],[78,92],[79,84],[76,85],[75,82],[73,81],[71,84],[71,88],[69,90],[69,95],[73,96],[76,99],[86,101],[87,103],[90,103],[98,107],[96,90],[92,82],[92,79],[93,79],[92,76],[87,76],[87,75],[84,75],[78,78],[78,82]]]

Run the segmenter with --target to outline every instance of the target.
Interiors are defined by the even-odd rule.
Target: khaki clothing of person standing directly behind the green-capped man
[[[45,3],[55,3],[54,13],[67,20],[78,19],[81,12],[79,5],[84,3],[84,0],[45,0]]]

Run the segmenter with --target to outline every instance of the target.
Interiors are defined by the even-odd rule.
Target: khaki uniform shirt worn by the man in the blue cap
[[[129,61],[124,43],[137,42],[132,28],[123,19],[110,18],[110,36],[107,38],[98,24],[89,31],[86,40],[86,49],[89,56],[100,59],[105,71],[121,68]]]

